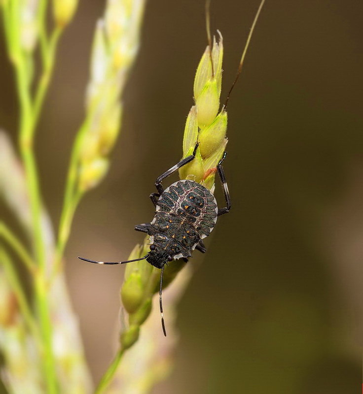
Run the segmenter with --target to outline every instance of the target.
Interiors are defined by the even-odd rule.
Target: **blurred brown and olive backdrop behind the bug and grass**
[[[257,6],[212,3],[212,28],[225,45],[222,97]],[[80,1],[37,136],[42,191],[55,223],[103,9],[104,1]],[[175,368],[154,393],[358,393],[362,15],[358,0],[266,1],[229,101],[225,172],[233,210],[218,221],[208,253],[190,262],[199,268],[179,307]],[[123,268],[82,264],[76,256],[124,259],[142,240],[133,226],[152,217],[154,179],[182,154],[204,20],[204,1],[149,1],[109,175],[75,218],[67,275],[96,381],[114,351]],[[15,136],[3,40],[0,86],[1,127]]]

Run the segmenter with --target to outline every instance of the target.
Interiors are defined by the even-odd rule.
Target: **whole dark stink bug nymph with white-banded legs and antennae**
[[[79,257],[79,259],[86,262],[98,264],[125,264],[145,259],[154,267],[160,268],[160,313],[165,336],[166,330],[162,305],[165,264],[177,259],[183,259],[187,262],[194,249],[205,253],[206,248],[203,238],[208,236],[214,229],[218,216],[227,213],[231,208],[231,199],[222,167],[226,152],[224,152],[222,159],[217,165],[226,201],[225,207],[218,208],[216,198],[211,191],[191,180],[180,180],[164,190],[161,182],[183,165],[190,163],[195,158],[197,148],[198,143],[196,143],[192,155],[168,169],[155,181],[157,193],[151,193],[150,195],[151,201],[155,206],[155,216],[151,223],[135,226],[135,230],[146,232],[149,235],[149,253],[140,259],[125,262],[97,262]]]

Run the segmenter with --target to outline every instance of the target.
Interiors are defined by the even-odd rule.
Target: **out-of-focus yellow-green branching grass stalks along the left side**
[[[96,27],[85,120],[73,145],[58,237],[41,198],[34,138],[52,76],[57,44],[71,22],[77,0],[0,0],[7,52],[19,98],[19,150],[0,133],[0,195],[31,245],[0,223],[1,377],[9,393],[89,393],[77,318],[69,301],[62,258],[80,198],[107,172],[109,152],[121,122],[122,93],[137,54],[145,0],[108,0]],[[51,33],[47,28],[52,7]],[[39,52],[41,70],[35,78]],[[9,253],[8,251],[11,251]],[[29,273],[33,297],[14,266]],[[30,299],[32,298],[32,299]]]

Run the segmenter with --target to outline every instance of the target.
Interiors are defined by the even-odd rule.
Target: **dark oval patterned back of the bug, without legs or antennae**
[[[156,263],[156,255],[166,258],[163,263],[168,256],[190,257],[199,240],[213,230],[217,212],[216,199],[204,186],[189,180],[173,183],[159,197],[149,228],[150,244],[156,247],[150,260]]]

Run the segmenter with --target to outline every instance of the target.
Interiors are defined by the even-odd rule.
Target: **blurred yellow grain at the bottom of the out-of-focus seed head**
[[[106,175],[109,169],[109,161],[97,158],[90,162],[84,161],[79,171],[79,190],[85,192],[96,187]]]

